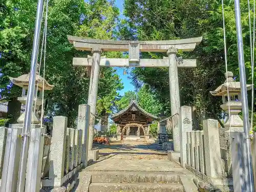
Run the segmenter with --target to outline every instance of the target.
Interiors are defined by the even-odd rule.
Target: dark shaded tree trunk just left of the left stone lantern
[[[17,119],[20,116],[20,108],[22,106],[22,103],[18,101],[17,97],[10,98],[10,101],[8,102],[8,112],[7,116],[9,120],[9,123],[14,124],[17,123]]]

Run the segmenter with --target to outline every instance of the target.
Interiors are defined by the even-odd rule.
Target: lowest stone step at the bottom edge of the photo
[[[91,183],[89,192],[184,192],[179,183]]]

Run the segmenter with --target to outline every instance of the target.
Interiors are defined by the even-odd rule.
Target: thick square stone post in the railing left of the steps
[[[67,117],[53,118],[49,179],[54,180],[54,186],[58,187],[62,185],[61,179],[65,169],[67,122]]]

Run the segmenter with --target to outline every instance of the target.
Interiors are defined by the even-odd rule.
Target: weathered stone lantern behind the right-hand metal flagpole
[[[222,96],[221,108],[228,114],[228,106],[230,108],[230,115],[224,123],[225,127],[243,127],[243,120],[238,115],[242,112],[242,102],[241,102],[241,87],[240,82],[236,82],[233,77],[232,72],[225,73],[225,76],[228,77],[227,80],[221,86],[219,86],[215,91],[210,91],[211,95]],[[229,103],[227,88],[229,93]],[[252,89],[252,85],[246,85],[247,91]]]

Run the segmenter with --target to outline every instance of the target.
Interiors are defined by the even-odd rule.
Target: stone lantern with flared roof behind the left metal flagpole
[[[13,78],[9,77],[11,82],[13,84],[16,84],[16,86],[22,87],[22,96],[18,97],[18,100],[22,104],[26,104],[27,102],[27,92],[28,92],[28,86],[29,86],[29,77],[30,74],[21,75],[19,77]],[[39,81],[39,83],[38,83]],[[37,83],[38,83],[38,90],[37,90]],[[52,90],[54,86],[49,84],[46,80],[44,81],[44,78],[42,78],[40,75],[38,75],[38,72],[36,74],[35,78],[35,89],[34,89],[34,103],[33,103],[33,110],[32,110],[32,122],[33,124],[38,124],[41,122],[38,113],[40,113],[42,105],[42,87],[44,84],[44,90]],[[37,92],[36,92],[37,91]],[[45,100],[44,100],[45,103]],[[35,114],[34,114],[34,108],[35,108]],[[19,118],[17,119],[18,123],[24,123],[25,119],[25,113],[22,113]]]

